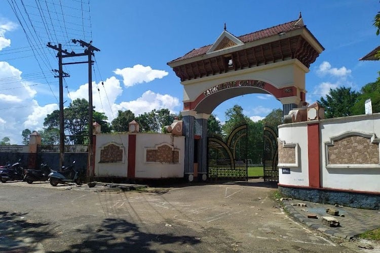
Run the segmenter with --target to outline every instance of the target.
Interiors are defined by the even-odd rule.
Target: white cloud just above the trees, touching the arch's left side
[[[175,113],[175,107],[179,106],[178,98],[168,94],[162,95],[152,91],[146,91],[142,96],[134,101],[121,102],[113,106],[114,110],[131,110],[136,116],[138,114],[149,112],[153,109],[167,108],[171,113]]]

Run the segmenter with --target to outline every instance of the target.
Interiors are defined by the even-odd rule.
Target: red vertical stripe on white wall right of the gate
[[[320,187],[319,123],[308,124],[309,186]]]

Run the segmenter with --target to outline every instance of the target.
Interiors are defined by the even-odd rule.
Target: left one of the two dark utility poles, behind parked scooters
[[[64,161],[64,153],[65,153],[65,130],[63,125],[63,77],[70,77],[69,74],[63,72],[62,70],[62,45],[58,44],[58,48],[56,46],[47,45],[49,48],[58,50],[58,70],[54,69],[54,72],[58,72],[59,78],[59,171],[61,170],[63,161]],[[65,51],[63,51],[65,53]]]

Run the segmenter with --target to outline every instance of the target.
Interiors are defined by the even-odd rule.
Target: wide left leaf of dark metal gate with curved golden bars
[[[229,136],[208,135],[207,171],[210,179],[248,180],[247,124],[237,126]]]

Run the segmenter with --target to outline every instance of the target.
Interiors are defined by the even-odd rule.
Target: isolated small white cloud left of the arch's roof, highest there
[[[132,68],[116,69],[115,74],[123,76],[123,82],[126,87],[131,87],[137,83],[153,81],[156,78],[163,78],[168,75],[164,70],[152,69],[150,66],[142,66],[137,64]]]

